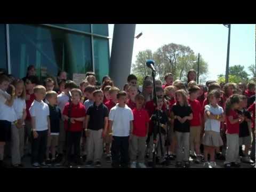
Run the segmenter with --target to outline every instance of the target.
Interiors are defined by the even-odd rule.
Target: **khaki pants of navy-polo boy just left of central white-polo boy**
[[[103,154],[103,138],[102,129],[98,131],[88,130],[89,136],[87,139],[87,161],[101,162]]]

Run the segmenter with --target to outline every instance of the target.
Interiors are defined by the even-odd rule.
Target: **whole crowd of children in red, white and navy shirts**
[[[205,167],[217,167],[215,158],[225,167],[239,167],[241,156],[255,162],[254,82],[204,86],[194,70],[186,83],[168,73],[154,97],[149,76],[142,91],[135,75],[123,90],[108,76],[101,87],[94,73],[86,76],[77,86],[61,71],[58,83],[46,78],[43,86],[34,74],[13,82],[0,75],[0,166],[6,142],[13,167],[22,166],[25,148],[34,167],[100,167],[104,151],[113,167],[151,167],[154,154],[157,164],[175,159],[176,167],[189,167],[190,157]]]

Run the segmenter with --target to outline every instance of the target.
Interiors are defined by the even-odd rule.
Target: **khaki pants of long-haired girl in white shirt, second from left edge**
[[[21,157],[24,153],[24,126],[20,129],[12,125],[11,156],[12,165],[21,164]]]

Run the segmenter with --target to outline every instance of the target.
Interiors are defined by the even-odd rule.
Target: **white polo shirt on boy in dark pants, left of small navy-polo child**
[[[31,107],[29,108],[31,117],[36,119],[36,131],[45,131],[48,129],[47,116],[50,115],[49,106],[41,101],[34,100]]]

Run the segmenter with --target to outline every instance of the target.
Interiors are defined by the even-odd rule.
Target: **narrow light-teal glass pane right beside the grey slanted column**
[[[94,67],[97,80],[102,81],[102,77],[109,73],[109,44],[108,39],[94,37]]]

